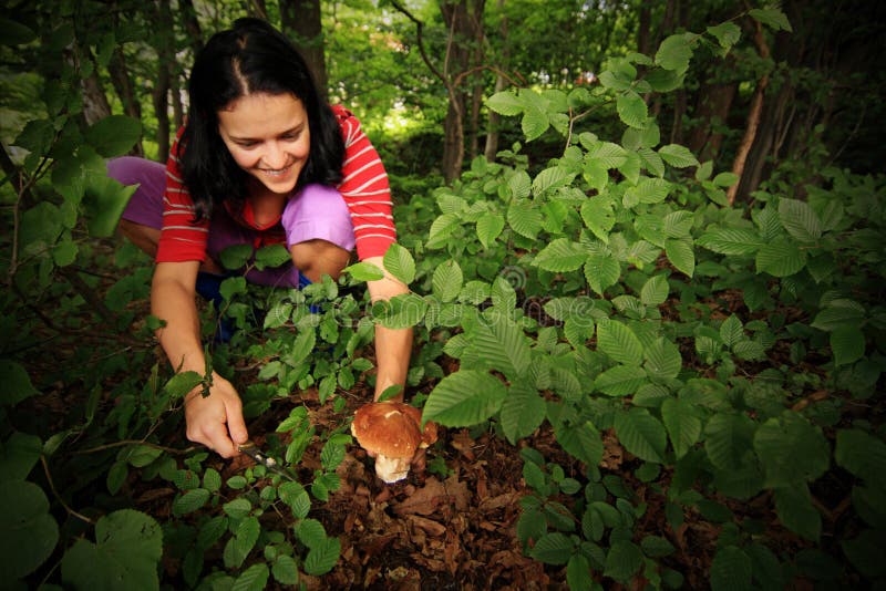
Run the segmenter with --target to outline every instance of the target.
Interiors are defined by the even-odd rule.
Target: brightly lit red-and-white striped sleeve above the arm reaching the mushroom
[[[341,106],[332,110],[344,138],[343,178],[338,188],[351,212],[357,256],[360,260],[384,256],[396,241],[388,173],[357,117]]]

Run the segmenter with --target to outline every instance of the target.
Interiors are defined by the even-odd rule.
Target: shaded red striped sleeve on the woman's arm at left
[[[209,221],[194,221],[194,203],[185,187],[178,160],[178,142],[184,127],[178,129],[166,160],[166,190],[163,194],[163,230],[157,246],[157,262],[206,260]]]

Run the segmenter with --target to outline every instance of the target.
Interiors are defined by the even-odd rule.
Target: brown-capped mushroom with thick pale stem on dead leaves
[[[351,423],[357,442],[375,456],[375,474],[388,484],[402,480],[415,450],[436,440],[436,425],[425,423],[414,406],[402,402],[373,402],[358,408]]]

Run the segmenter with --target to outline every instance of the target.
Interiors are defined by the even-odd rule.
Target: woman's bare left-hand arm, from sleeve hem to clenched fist
[[[206,359],[194,301],[199,265],[199,261],[158,262],[151,284],[151,312],[166,322],[157,330],[157,338],[173,367],[203,374]],[[185,396],[187,438],[223,457],[237,455],[238,444],[248,439],[237,391],[215,372],[209,395],[204,397],[200,390],[195,388]]]

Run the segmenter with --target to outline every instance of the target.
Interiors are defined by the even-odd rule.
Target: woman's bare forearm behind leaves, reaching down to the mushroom
[[[370,257],[365,262],[384,269],[382,257]],[[394,296],[409,292],[409,287],[385,273],[384,279],[369,281],[369,297],[374,302],[378,300],[389,300]],[[375,324],[375,362],[379,372],[375,376],[374,400],[390,386],[404,386],[406,383],[406,372],[409,372],[409,359],[412,353],[413,331],[409,329],[388,329],[381,324]],[[403,392],[392,398],[402,401]]]

